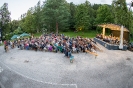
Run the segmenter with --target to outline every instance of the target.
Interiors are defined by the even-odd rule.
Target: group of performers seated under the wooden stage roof
[[[115,44],[115,45],[119,45],[120,43],[120,38],[119,37],[115,37],[115,36],[103,36],[102,34],[97,34],[96,38],[101,39],[109,44]],[[127,45],[127,41],[125,39],[123,39],[123,44]]]

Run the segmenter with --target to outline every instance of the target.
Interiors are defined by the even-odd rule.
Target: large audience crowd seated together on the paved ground
[[[77,36],[76,38],[70,38],[63,34],[44,34],[39,38],[31,36],[30,38],[17,39],[15,41],[5,41],[5,46],[11,46],[14,48],[17,46],[20,49],[35,50],[35,51],[49,51],[49,52],[61,52],[65,56],[70,57],[71,53],[86,52],[89,50],[95,52],[96,47],[94,42],[89,38],[82,38]]]

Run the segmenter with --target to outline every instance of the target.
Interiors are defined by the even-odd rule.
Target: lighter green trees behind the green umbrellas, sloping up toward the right
[[[41,3],[40,1],[36,6],[31,7],[27,13],[21,15],[19,26],[22,31],[28,33],[41,32],[42,30],[42,18],[41,18]]]

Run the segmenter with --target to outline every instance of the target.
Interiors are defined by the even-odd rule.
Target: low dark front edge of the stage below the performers
[[[101,44],[102,46],[106,47],[108,50],[119,50],[119,45],[115,45],[115,44],[109,44],[101,39],[98,38],[94,38],[94,41],[98,42],[99,44]],[[123,49],[122,50],[127,50],[127,46],[123,45]]]

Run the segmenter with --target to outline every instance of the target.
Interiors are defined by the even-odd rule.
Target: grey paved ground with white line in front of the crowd
[[[99,45],[100,46],[100,45]],[[133,88],[133,52],[100,46],[97,58],[73,54],[0,47],[0,85],[3,88]]]

